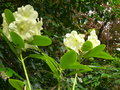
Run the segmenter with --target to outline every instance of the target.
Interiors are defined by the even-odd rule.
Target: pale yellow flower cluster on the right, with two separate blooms
[[[78,34],[76,31],[72,31],[71,33],[67,33],[64,38],[64,45],[79,54],[82,52],[82,45],[85,43],[84,34]],[[88,36],[88,41],[93,44],[93,48],[100,45],[100,41],[96,35],[95,29],[90,32]]]

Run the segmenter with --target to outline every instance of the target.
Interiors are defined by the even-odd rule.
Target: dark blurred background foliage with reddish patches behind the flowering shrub
[[[43,34],[48,35],[53,43],[48,47],[40,47],[42,51],[59,62],[60,56],[66,51],[63,45],[64,35],[72,30],[86,33],[95,28],[106,50],[115,57],[113,61],[102,59],[85,60],[88,65],[105,66],[107,69],[95,69],[93,72],[79,74],[76,90],[119,90],[120,89],[120,1],[119,0],[1,0],[0,14],[8,8],[15,11],[17,7],[31,4],[43,18]],[[0,16],[0,25],[2,16]],[[10,67],[23,76],[21,64],[4,40],[0,38],[1,66]],[[29,50],[27,54],[35,52]],[[26,53],[25,53],[26,54]],[[26,60],[30,80],[34,88],[54,90],[57,80],[51,74],[49,67],[40,60]],[[66,71],[66,73],[69,71]],[[14,76],[14,78],[17,78]],[[66,76],[64,90],[71,87],[73,77]],[[81,81],[82,79],[82,81]],[[7,81],[0,79],[3,90],[12,87]],[[14,90],[14,89],[13,89]]]

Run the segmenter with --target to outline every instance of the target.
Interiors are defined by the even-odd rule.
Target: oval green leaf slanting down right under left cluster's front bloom
[[[19,47],[19,48],[24,48],[25,47],[25,43],[24,43],[24,40],[15,32],[10,32],[10,36],[11,36],[11,39],[13,41],[13,43]]]

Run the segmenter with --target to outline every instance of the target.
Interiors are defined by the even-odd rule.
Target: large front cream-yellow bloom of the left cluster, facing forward
[[[24,40],[29,40],[33,35],[41,35],[41,25],[31,20],[14,21],[9,25],[9,30],[19,34]]]

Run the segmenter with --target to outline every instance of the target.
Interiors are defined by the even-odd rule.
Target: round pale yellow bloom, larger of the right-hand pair
[[[76,31],[66,34],[64,38],[64,45],[76,51],[79,54],[84,40],[84,34],[77,34]]]

